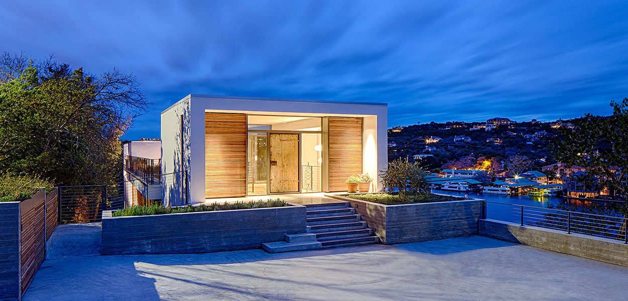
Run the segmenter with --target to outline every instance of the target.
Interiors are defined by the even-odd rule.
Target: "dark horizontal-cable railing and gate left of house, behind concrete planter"
[[[160,185],[148,184],[157,177]],[[187,204],[187,171],[151,177],[130,176],[126,181],[104,185],[60,186],[58,223],[92,223],[102,211],[155,203]]]

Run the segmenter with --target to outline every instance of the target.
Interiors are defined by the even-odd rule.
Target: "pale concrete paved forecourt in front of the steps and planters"
[[[483,236],[46,260],[23,300],[625,300],[628,268]]]

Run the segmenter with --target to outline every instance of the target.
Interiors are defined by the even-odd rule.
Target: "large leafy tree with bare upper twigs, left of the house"
[[[25,60],[0,59],[0,171],[57,184],[119,180],[119,137],[151,104],[133,75]]]

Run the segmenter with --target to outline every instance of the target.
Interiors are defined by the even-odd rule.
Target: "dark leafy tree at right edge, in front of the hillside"
[[[586,186],[609,187],[628,211],[628,98],[610,105],[613,115],[587,114],[575,120],[574,130],[561,130],[553,154],[559,162],[585,167],[587,173],[580,181]]]

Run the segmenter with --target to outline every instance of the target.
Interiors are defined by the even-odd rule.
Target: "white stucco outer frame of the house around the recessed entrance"
[[[191,203],[205,201],[205,112],[243,114],[280,114],[295,116],[365,117],[364,146],[376,145],[375,151],[365,151],[363,168],[375,177],[387,164],[387,105],[381,103],[341,103],[317,100],[280,100],[269,98],[215,97],[188,95],[161,112],[162,172],[188,170]],[[187,124],[184,164],[175,169],[178,116],[184,114]],[[192,129],[192,130],[190,130]],[[369,162],[367,162],[369,161]],[[376,162],[376,163],[375,163]],[[376,185],[381,188],[381,184]]]

